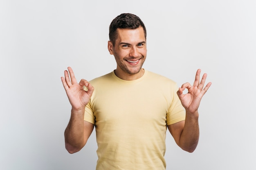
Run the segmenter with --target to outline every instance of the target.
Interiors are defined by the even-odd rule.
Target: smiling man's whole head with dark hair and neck
[[[124,80],[135,80],[144,74],[146,28],[136,15],[124,13],[110,24],[108,50],[117,62],[115,74]]]

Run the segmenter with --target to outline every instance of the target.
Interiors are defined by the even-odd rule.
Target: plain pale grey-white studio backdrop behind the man
[[[167,131],[166,169],[255,170],[255,9],[254,0],[1,0],[0,169],[95,169],[95,130],[79,153],[65,150],[61,76],[68,66],[78,81],[114,70],[109,24],[134,13],[148,31],[145,69],[181,86],[201,68],[213,83],[197,149],[186,153]]]

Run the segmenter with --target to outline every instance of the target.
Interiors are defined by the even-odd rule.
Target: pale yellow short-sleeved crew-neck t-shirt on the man
[[[90,83],[84,120],[96,128],[96,169],[165,170],[166,125],[185,120],[176,83],[147,70],[135,81],[111,72]]]

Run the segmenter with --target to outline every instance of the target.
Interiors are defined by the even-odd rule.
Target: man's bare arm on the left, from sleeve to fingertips
[[[65,70],[64,72],[65,78],[61,77],[63,87],[72,106],[70,121],[64,135],[67,151],[75,153],[83,148],[94,128],[93,124],[83,120],[85,106],[92,96],[94,87],[84,79],[77,83],[72,68],[68,67],[68,71]],[[84,86],[88,88],[87,91],[83,89]]]

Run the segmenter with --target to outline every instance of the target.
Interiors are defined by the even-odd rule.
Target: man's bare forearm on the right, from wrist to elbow
[[[186,112],[186,120],[184,129],[180,136],[180,147],[188,152],[193,152],[198,145],[199,139],[199,124],[198,112]]]

